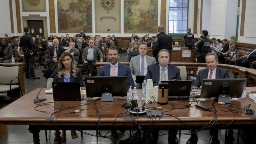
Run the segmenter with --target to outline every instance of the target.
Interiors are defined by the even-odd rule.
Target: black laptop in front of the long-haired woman
[[[81,100],[79,82],[52,82],[54,101],[79,101]]]

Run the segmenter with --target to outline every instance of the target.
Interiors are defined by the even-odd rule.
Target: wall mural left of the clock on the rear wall
[[[59,33],[92,33],[92,0],[57,0]]]

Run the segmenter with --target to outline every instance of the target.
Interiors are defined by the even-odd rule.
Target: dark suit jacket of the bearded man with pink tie
[[[134,87],[132,74],[129,66],[118,62],[118,76],[128,76],[128,86]],[[100,67],[99,76],[110,76],[110,64]]]

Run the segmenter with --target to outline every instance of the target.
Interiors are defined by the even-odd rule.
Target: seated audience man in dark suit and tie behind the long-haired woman
[[[60,55],[64,52],[64,48],[62,46],[59,46],[59,40],[58,39],[54,39],[52,41],[53,46],[50,47],[50,52],[49,52],[49,58],[50,60],[52,60],[53,62],[57,63]]]

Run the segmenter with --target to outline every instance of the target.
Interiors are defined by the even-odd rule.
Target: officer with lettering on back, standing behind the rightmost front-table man
[[[206,62],[205,56],[210,52],[210,40],[206,38],[208,35],[207,30],[202,30],[202,39],[196,45],[196,59],[197,62]]]

